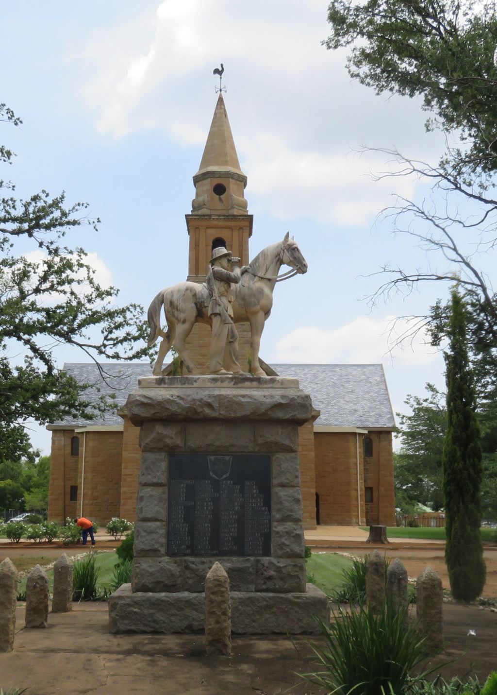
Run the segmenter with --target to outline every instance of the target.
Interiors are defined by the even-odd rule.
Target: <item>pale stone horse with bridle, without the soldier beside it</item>
[[[278,276],[282,265],[289,265],[292,270]],[[249,265],[244,265],[239,284],[231,286],[235,295],[233,301],[235,323],[242,321],[250,323],[251,366],[252,373],[256,377],[266,376],[259,364],[259,347],[264,321],[269,317],[273,306],[274,286],[276,282],[287,280],[294,275],[303,275],[307,270],[308,264],[301,250],[294,238],[290,239],[287,233],[283,241],[267,246]],[[162,342],[157,361],[153,366],[153,375],[157,377],[162,375],[162,363],[171,347],[174,347],[187,370],[189,372],[194,370],[185,349],[185,341],[196,322],[210,325],[209,299],[207,286],[199,282],[178,282],[160,291],[155,297],[147,315],[150,326],[149,347],[159,337],[162,337]],[[164,306],[167,331],[160,328],[162,306]]]

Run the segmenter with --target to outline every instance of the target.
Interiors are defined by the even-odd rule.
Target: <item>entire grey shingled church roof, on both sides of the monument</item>
[[[316,425],[328,427],[394,427],[385,373],[381,364],[271,364],[282,377],[295,377],[301,389],[310,394],[312,404],[321,411]],[[66,363],[64,371],[80,384],[92,384],[85,400],[97,402],[101,395],[115,393],[119,406],[128,393],[137,387],[139,377],[151,375],[148,363],[104,364],[106,382],[94,363]],[[97,390],[100,389],[100,392]],[[121,425],[115,410],[83,421],[65,418],[53,425],[84,427],[85,425]]]

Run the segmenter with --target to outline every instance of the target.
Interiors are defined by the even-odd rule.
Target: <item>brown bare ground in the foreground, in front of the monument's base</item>
[[[23,629],[19,607],[17,624],[14,651],[0,654],[0,687],[28,687],[26,695],[322,692],[296,675],[312,670],[309,642],[319,638],[233,637],[232,657],[205,657],[202,635],[109,635],[106,604],[92,603],[49,614],[47,630]],[[440,669],[446,678],[485,680],[496,667],[497,614],[445,604],[444,632],[445,653],[423,668],[456,658]]]

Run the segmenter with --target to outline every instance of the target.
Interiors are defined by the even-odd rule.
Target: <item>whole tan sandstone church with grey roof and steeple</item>
[[[222,94],[219,94],[187,223],[187,279],[203,282],[212,250],[225,246],[249,263],[253,215]],[[186,245],[185,245],[186,255]],[[312,272],[312,271],[311,271]],[[250,327],[237,324],[239,362],[249,370]],[[187,341],[199,374],[208,373],[210,327],[196,324]],[[381,364],[271,364],[267,375],[296,377],[310,394],[312,419],[299,428],[304,528],[319,524],[395,525],[392,432],[395,427]],[[49,519],[88,516],[101,524],[114,516],[135,520],[140,469],[140,427],[126,415],[126,398],[147,363],[106,364],[106,380],[94,363],[64,370],[92,384],[85,400],[115,393],[118,408],[94,420],[65,418],[52,432]]]

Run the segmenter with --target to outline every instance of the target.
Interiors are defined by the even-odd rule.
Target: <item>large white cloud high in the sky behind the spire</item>
[[[424,133],[416,101],[387,101],[352,84],[346,52],[321,46],[329,33],[321,0],[164,0],[153,16],[137,10],[137,26],[117,19],[75,51],[96,129],[116,138],[161,129],[200,149],[214,106],[212,68],[222,60],[255,212],[364,224],[391,190],[412,195],[414,183],[373,184],[367,174],[385,157],[357,158],[351,148],[397,145],[436,158],[436,136]]]

